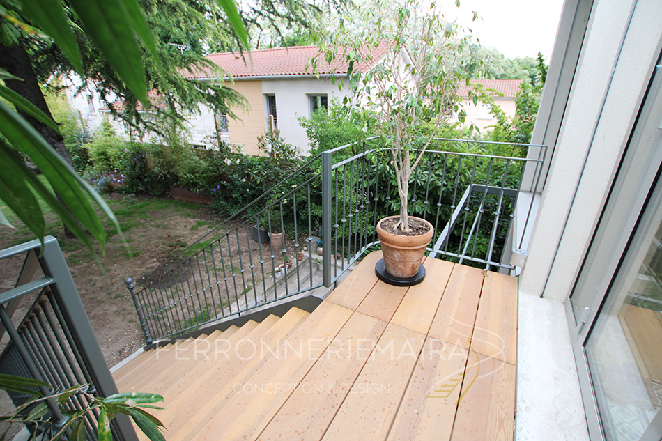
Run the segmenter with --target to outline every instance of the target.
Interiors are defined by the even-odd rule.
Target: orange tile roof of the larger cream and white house
[[[375,48],[374,61],[381,59],[388,50],[388,45],[382,44]],[[207,59],[218,65],[227,75],[235,79],[248,77],[266,77],[280,75],[311,75],[310,60],[320,54],[317,46],[277,47],[275,49],[256,49],[247,53],[224,52],[209,54]],[[341,57],[338,57],[341,58]],[[374,65],[374,63],[371,63]],[[336,59],[328,64],[325,60],[318,61],[318,70],[324,73],[343,74],[347,72],[349,63]],[[354,70],[363,71],[370,68],[367,63],[361,63]],[[185,78],[217,78],[220,72],[212,72],[209,68],[201,68],[193,72],[183,72]]]

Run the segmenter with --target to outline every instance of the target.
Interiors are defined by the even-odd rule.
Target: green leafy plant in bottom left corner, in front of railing
[[[161,421],[146,412],[144,409],[161,409],[153,405],[162,401],[163,397],[157,394],[130,393],[114,394],[105,398],[94,396],[87,392],[88,387],[75,385],[53,394],[43,394],[41,390],[49,389],[49,385],[40,380],[11,375],[0,375],[0,389],[7,392],[24,394],[31,398],[19,405],[15,412],[0,417],[0,421],[9,424],[25,424],[33,429],[33,438],[40,432],[45,433],[43,439],[57,440],[85,440],[86,419],[94,418],[98,412],[98,439],[112,440],[110,421],[119,414],[128,415],[151,441],[163,441],[160,429]],[[76,405],[69,403],[73,396],[78,396]],[[48,402],[56,406],[68,419],[63,426],[59,426],[54,419]],[[80,407],[80,403],[86,405]],[[70,431],[70,435],[66,432]],[[4,438],[4,436],[3,436]]]

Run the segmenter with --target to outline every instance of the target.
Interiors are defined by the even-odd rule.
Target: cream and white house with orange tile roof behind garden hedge
[[[387,54],[387,46],[375,49],[374,63]],[[348,88],[331,81],[332,76],[347,75],[349,64],[341,57],[331,63],[320,61],[314,74],[311,60],[320,53],[316,46],[256,49],[250,54],[225,52],[209,54],[207,59],[218,66],[191,69],[184,77],[195,81],[224,84],[243,95],[247,108],[233,109],[238,118],[213,115],[201,109],[189,119],[192,144],[205,145],[204,137],[216,132],[220,139],[242,146],[243,152],[261,155],[257,138],[273,124],[288,144],[297,146],[302,154],[309,150],[308,139],[299,116],[310,117],[314,111],[326,108],[334,98],[348,95]],[[354,70],[369,70],[372,65],[355,65]]]

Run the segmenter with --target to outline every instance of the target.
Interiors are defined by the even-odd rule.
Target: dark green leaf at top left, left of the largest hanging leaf
[[[51,36],[73,64],[77,72],[83,72],[83,63],[76,38],[69,25],[61,0],[31,0],[26,13],[45,33]]]

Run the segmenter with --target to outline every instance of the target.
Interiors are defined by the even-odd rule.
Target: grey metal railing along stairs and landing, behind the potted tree
[[[521,192],[537,188],[545,155],[545,146],[532,144],[435,139],[413,172],[408,201],[410,214],[435,228],[431,256],[512,269],[505,259],[511,220]],[[128,279],[146,341],[334,286],[379,247],[376,222],[399,212],[394,183],[380,138],[311,157],[146,286],[135,291]]]

